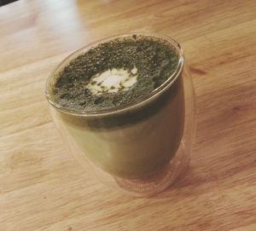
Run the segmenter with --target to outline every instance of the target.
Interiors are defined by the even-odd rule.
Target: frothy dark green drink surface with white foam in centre
[[[177,55],[159,38],[134,35],[100,43],[55,74],[61,107],[96,111],[147,97],[177,69]]]

